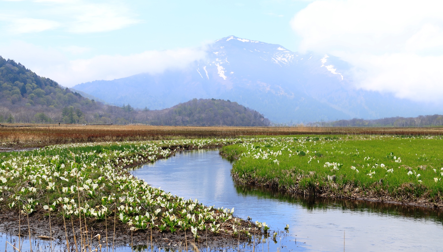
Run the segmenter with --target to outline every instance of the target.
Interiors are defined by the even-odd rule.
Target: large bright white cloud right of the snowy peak
[[[299,49],[355,66],[358,87],[415,101],[443,95],[443,2],[319,0],[291,20]]]

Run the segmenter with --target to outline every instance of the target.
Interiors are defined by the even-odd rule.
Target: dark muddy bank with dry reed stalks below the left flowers
[[[58,244],[66,246],[66,233],[68,236],[71,251],[75,251],[74,243],[74,232],[75,230],[75,240],[77,244],[80,244],[80,221],[79,218],[74,217],[72,219],[65,219],[66,222],[66,233],[65,224],[63,218],[60,214],[51,215],[51,232],[49,226],[49,216],[47,212],[36,211],[29,215],[29,229],[27,224],[26,215],[21,214],[20,225],[19,225],[19,214],[12,213],[10,209],[1,209],[0,213],[0,233],[8,235],[19,235],[24,238],[28,238],[29,229],[31,232],[31,239],[41,239],[38,236],[52,236],[54,241]],[[230,219],[220,225],[220,233],[214,234],[209,229],[207,232],[205,230],[199,230],[198,235],[200,236],[198,240],[194,240],[194,236],[188,229],[185,233],[181,230],[177,230],[174,233],[169,231],[164,231],[160,233],[158,229],[152,229],[152,246],[161,248],[173,248],[178,249],[179,246],[183,246],[187,243],[188,248],[191,247],[190,242],[195,242],[199,247],[206,247],[208,244],[211,248],[226,248],[236,245],[239,240],[240,242],[245,242],[249,240],[249,237],[241,233],[240,236],[233,236],[229,234],[232,231],[232,225],[235,218]],[[156,224],[159,221],[156,221]],[[115,225],[115,233],[114,233]],[[260,229],[256,228],[255,224],[249,221],[243,221],[237,218],[236,223],[237,229],[249,229],[250,233],[261,234]],[[108,236],[109,246],[121,247],[133,244],[133,246],[151,246],[151,229],[137,230],[131,232],[128,224],[123,224],[121,221],[117,220],[114,223],[114,217],[109,216],[106,221],[86,221],[86,227],[88,232],[83,232],[84,239],[89,240],[89,244],[93,246],[98,246],[99,242],[97,240],[97,234],[101,236],[102,247],[106,244],[106,234]],[[82,230],[85,230],[85,219],[82,218]],[[107,232],[106,232],[107,230]],[[52,233],[52,234],[51,234]],[[95,238],[91,238],[95,237]],[[185,238],[186,237],[186,238]],[[91,242],[92,240],[92,242]],[[22,241],[23,242],[23,241]],[[29,243],[29,241],[27,241]],[[181,245],[180,245],[181,244]]]

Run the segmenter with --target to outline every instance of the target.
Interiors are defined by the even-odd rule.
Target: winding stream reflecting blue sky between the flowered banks
[[[177,153],[131,171],[152,186],[205,205],[235,207],[234,215],[266,221],[289,233],[270,251],[443,251],[443,214],[432,209],[365,201],[297,197],[242,186],[218,150]],[[345,240],[343,240],[345,235]],[[345,244],[343,244],[343,241]],[[260,244],[266,251],[268,244]]]

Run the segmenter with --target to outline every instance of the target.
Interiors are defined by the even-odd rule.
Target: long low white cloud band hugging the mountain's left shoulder
[[[69,60],[57,49],[46,49],[19,41],[8,47],[0,47],[0,51],[4,58],[12,58],[40,76],[68,87],[87,81],[113,80],[140,73],[157,74],[167,69],[185,69],[191,62],[206,57],[203,47],[144,51],[130,55],[98,55]]]

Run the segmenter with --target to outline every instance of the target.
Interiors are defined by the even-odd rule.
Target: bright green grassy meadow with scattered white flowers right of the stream
[[[238,159],[232,172],[243,183],[333,197],[442,202],[442,150],[441,137],[298,136],[234,144],[222,152]]]

